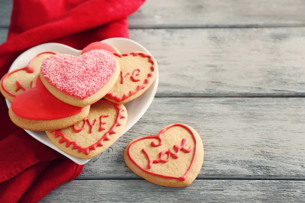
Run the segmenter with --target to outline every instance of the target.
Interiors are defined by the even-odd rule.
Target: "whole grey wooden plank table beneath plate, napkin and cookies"
[[[0,0],[0,40],[11,3]],[[305,1],[148,0],[131,39],[159,62],[145,115],[42,202],[305,201]],[[182,122],[204,142],[200,174],[166,188],[124,162],[131,140]]]

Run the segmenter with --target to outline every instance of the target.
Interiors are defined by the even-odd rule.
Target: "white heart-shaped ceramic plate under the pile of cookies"
[[[122,54],[127,52],[134,52],[134,51],[142,51],[149,53],[149,51],[139,43],[126,38],[110,38],[107,40],[103,40],[102,42],[106,42],[110,45],[113,45]],[[26,66],[33,57],[45,51],[68,53],[75,56],[78,56],[81,53],[81,50],[77,50],[63,44],[58,44],[58,43],[41,44],[31,49],[28,49],[27,51],[20,54],[20,56],[18,56],[16,60],[12,63],[9,72]],[[150,106],[151,102],[155,97],[158,87],[158,82],[159,82],[159,74],[157,72],[157,77],[154,83],[141,96],[125,104],[128,113],[128,120],[123,134],[126,133],[146,112],[146,110],[148,109],[148,107]],[[6,99],[6,103],[8,108],[10,108],[11,102]],[[73,160],[78,164],[82,165],[90,160],[90,159],[76,158],[63,152],[49,140],[45,131],[31,131],[31,130],[25,130],[25,131],[36,140],[42,142],[43,144],[49,146],[50,148],[56,150],[57,152],[65,155],[66,157],[70,158],[71,160]]]

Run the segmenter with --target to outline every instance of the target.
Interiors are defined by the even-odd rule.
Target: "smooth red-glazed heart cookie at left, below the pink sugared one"
[[[37,78],[35,87],[18,94],[9,109],[11,120],[27,130],[54,130],[88,116],[90,106],[74,107],[54,97]]]

